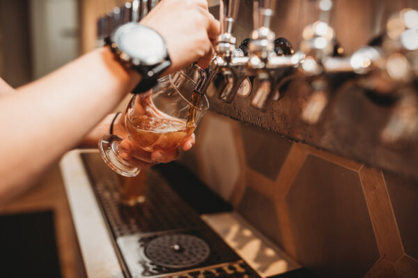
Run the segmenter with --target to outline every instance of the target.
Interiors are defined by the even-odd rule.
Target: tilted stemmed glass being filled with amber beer
[[[147,152],[175,149],[192,135],[209,108],[205,95],[194,97],[194,85],[194,80],[180,71],[160,79],[150,92],[132,97],[125,111],[125,126],[134,149]],[[120,155],[121,141],[115,135],[103,136],[99,142],[100,154],[118,174],[135,177],[141,168]]]

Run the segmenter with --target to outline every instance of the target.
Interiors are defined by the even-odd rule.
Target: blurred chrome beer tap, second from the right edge
[[[343,57],[343,48],[329,24],[332,5],[331,0],[318,1],[320,20],[309,24],[302,32],[300,50],[306,56],[300,71],[306,76],[311,92],[302,107],[301,117],[308,124],[318,122],[330,100],[330,92],[353,76],[350,58]]]

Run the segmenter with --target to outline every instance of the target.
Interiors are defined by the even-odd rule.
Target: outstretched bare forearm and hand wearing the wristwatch
[[[212,55],[208,34],[219,33],[219,22],[208,15],[204,3],[164,0],[155,8],[158,13],[144,19],[167,42],[172,59],[168,72]],[[181,12],[181,17],[174,12]],[[158,23],[170,18],[175,20],[168,25]],[[194,26],[196,20],[199,24]],[[179,39],[188,47],[172,42]],[[75,147],[138,81],[139,75],[125,70],[104,47],[13,94],[0,94],[0,204]]]

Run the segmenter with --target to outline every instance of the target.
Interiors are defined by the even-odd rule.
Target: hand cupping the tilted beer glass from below
[[[131,165],[141,168],[150,167],[157,163],[168,163],[176,160],[178,157],[178,149],[162,150],[156,149],[154,152],[146,152],[144,149],[134,147],[134,143],[127,138],[127,131],[125,128],[125,114],[118,115],[114,122],[114,134],[123,138],[121,142],[121,149],[123,153],[120,155],[127,160]],[[180,147],[183,151],[192,149],[194,145],[194,134],[186,138]]]

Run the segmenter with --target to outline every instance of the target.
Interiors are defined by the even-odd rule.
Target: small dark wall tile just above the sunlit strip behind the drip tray
[[[282,246],[274,202],[247,186],[238,212],[274,243]]]

